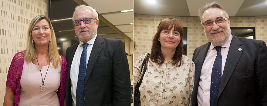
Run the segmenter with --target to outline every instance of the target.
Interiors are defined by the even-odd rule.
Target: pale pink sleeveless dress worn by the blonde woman
[[[21,91],[19,106],[59,106],[59,98],[56,91],[60,85],[60,65],[55,69],[50,62],[41,69],[42,77],[45,78],[44,85],[46,91],[40,91],[42,85],[42,77],[38,65],[32,62],[24,61],[23,71],[21,75]],[[47,71],[47,75],[46,75]]]

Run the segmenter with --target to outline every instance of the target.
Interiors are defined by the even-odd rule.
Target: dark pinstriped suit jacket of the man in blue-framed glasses
[[[72,104],[70,67],[79,42],[66,50],[66,104]],[[79,71],[79,70],[77,70]],[[130,71],[122,41],[97,35],[84,81],[86,106],[130,106]],[[77,101],[79,102],[79,101]]]

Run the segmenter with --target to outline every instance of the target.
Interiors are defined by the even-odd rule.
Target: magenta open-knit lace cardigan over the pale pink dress
[[[60,85],[57,91],[57,95],[59,97],[60,106],[64,106],[67,62],[63,56],[61,56],[61,60],[62,60],[61,79],[60,79]],[[11,91],[15,95],[13,106],[18,106],[19,104],[20,78],[22,74],[23,63],[24,63],[24,51],[21,51],[15,54],[14,58],[11,61],[9,70],[8,70],[6,86],[11,88]]]

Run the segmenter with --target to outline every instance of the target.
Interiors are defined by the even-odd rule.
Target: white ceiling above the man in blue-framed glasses
[[[91,7],[95,8],[99,14],[115,25],[120,31],[133,39],[133,12],[122,10],[133,9],[133,0],[83,0]]]

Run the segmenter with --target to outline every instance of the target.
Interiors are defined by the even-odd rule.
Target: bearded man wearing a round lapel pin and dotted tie
[[[210,42],[195,49],[192,106],[266,106],[267,47],[236,37],[229,16],[216,2],[198,10]]]

